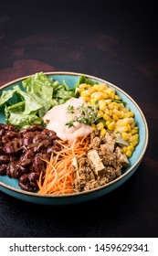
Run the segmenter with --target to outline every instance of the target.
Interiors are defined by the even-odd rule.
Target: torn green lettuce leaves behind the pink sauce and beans
[[[94,84],[82,75],[71,89],[64,80],[60,83],[43,72],[26,78],[22,81],[22,87],[15,85],[13,89],[3,91],[0,96],[0,106],[5,107],[5,123],[11,123],[18,129],[26,129],[32,124],[45,126],[42,119],[44,114],[71,97],[77,98],[78,86],[83,82]]]

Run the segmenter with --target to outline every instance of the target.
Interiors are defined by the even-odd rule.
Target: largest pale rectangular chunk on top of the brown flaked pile
[[[102,164],[102,161],[100,159],[100,155],[98,155],[97,151],[94,149],[89,151],[88,158],[90,159],[90,161],[94,166],[94,171],[96,175],[100,176],[103,169],[105,168],[105,166]]]

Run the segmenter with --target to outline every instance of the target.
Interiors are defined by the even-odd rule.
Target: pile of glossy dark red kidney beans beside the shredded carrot
[[[57,139],[57,133],[42,126],[17,131],[0,123],[0,175],[17,178],[19,187],[34,192],[39,174],[47,167],[45,160],[61,149]]]

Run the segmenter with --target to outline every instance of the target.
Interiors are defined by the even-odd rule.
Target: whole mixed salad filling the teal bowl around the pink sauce
[[[68,104],[73,99],[84,103]],[[121,176],[139,143],[134,113],[117,92],[83,75],[69,88],[64,80],[38,72],[21,87],[2,91],[0,106],[6,123],[0,124],[0,175],[19,178],[19,186],[28,191],[38,187],[41,194],[68,194],[100,187]],[[47,128],[45,115],[57,106],[62,113],[67,106],[65,116],[70,117],[62,132],[82,125],[83,135],[73,144]],[[89,134],[84,135],[84,125]]]

